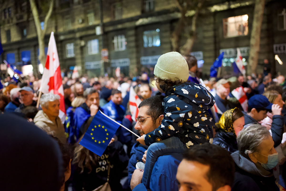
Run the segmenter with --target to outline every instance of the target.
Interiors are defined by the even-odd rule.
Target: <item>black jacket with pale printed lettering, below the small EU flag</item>
[[[110,178],[109,184],[112,191],[122,190],[120,179],[122,178],[122,171],[128,164],[128,156],[125,153],[122,144],[119,141],[115,141],[107,146],[102,156],[97,156],[97,164],[92,166],[90,173],[88,169],[84,169],[83,173],[78,164],[75,164],[75,172],[73,177],[74,190],[82,191],[83,188],[86,191],[92,191],[98,186],[104,184],[107,181],[107,162],[110,162]]]

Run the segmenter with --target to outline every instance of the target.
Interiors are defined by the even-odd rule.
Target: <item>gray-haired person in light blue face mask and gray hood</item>
[[[237,137],[238,151],[231,154],[236,172],[232,191],[282,190],[273,175],[278,154],[269,131],[260,124],[248,124]]]

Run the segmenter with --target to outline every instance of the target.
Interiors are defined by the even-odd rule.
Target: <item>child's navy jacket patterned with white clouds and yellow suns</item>
[[[160,86],[161,87],[161,86]],[[144,142],[150,145],[177,136],[187,147],[204,142],[212,143],[214,123],[207,112],[215,98],[202,85],[185,82],[165,91],[162,124],[146,134]]]

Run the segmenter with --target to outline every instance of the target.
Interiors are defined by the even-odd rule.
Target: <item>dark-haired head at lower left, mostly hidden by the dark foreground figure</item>
[[[61,191],[65,188],[65,182],[71,175],[71,162],[73,158],[72,148],[67,143],[62,143],[58,138],[51,136],[59,145],[61,156],[63,158],[64,177],[62,180]]]

